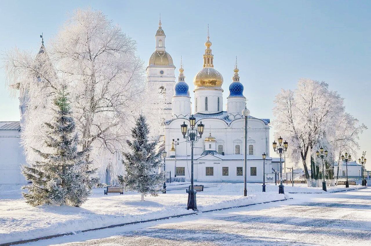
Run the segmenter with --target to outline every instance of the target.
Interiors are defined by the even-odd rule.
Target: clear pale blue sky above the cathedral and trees
[[[42,32],[47,46],[68,11],[88,6],[102,10],[137,40],[145,63],[155,48],[161,13],[166,50],[177,69],[183,56],[190,91],[203,64],[209,24],[224,102],[237,56],[255,117],[272,120],[274,96],[281,88],[294,89],[299,78],[325,81],[345,98],[346,110],[370,127],[359,142],[369,153],[371,169],[371,1],[2,1],[0,51],[37,49]],[[19,120],[18,102],[10,99],[4,83],[0,69],[0,121]]]

